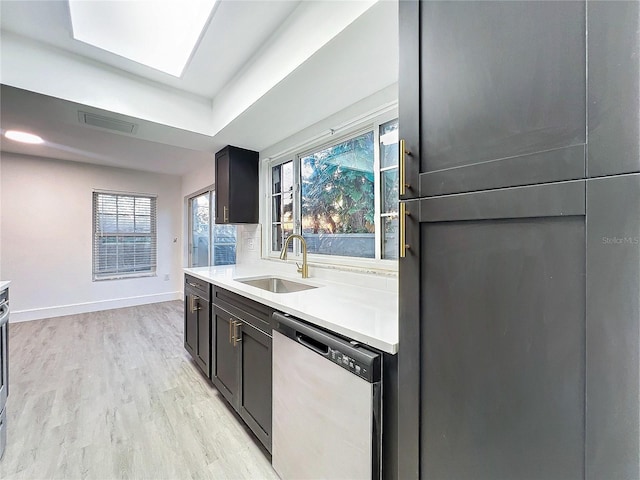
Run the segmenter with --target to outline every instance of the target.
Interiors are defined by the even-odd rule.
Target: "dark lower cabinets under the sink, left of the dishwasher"
[[[185,275],[184,347],[269,452],[271,313]]]

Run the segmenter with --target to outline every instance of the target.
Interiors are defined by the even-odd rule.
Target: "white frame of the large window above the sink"
[[[381,111],[382,110],[382,111]],[[265,208],[263,209],[262,219],[263,224],[266,225],[265,235],[263,236],[262,251],[263,258],[278,260],[280,258],[279,252],[271,249],[273,245],[273,207],[272,199],[274,193],[272,182],[272,169],[278,165],[282,165],[289,161],[293,161],[293,233],[300,233],[301,227],[301,159],[305,155],[309,155],[328,148],[338,143],[362,135],[366,132],[373,131],[373,143],[374,143],[374,228],[375,228],[375,254],[374,258],[365,257],[352,257],[343,255],[326,255],[309,253],[308,261],[312,264],[335,266],[344,268],[354,268],[357,270],[370,270],[370,271],[398,271],[398,259],[385,259],[382,258],[382,191],[381,191],[381,168],[380,168],[380,127],[385,123],[398,118],[397,104],[386,107],[385,109],[378,110],[376,113],[360,118],[356,121],[349,122],[347,126],[343,128],[331,129],[327,134],[323,134],[314,139],[308,140],[299,144],[296,147],[289,149],[288,151],[274,155],[271,158],[265,159],[262,162],[261,179],[263,181],[264,198],[266,199]],[[302,260],[302,249],[300,242],[292,242],[293,249],[289,250],[288,258],[291,262],[300,262]]]

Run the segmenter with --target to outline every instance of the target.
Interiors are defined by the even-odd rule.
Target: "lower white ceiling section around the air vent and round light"
[[[211,163],[211,137],[2,85],[3,130],[36,132],[45,143],[29,145],[0,137],[3,152],[131,168],[172,175]],[[135,136],[82,125],[78,111],[129,121]]]

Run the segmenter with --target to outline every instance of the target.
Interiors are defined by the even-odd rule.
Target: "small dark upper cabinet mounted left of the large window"
[[[231,145],[216,153],[216,223],[258,223],[258,152]]]

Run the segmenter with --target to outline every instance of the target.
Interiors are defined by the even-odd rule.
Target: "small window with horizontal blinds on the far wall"
[[[156,197],[93,193],[93,279],[156,273]]]

